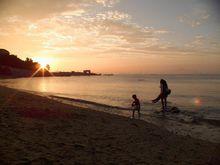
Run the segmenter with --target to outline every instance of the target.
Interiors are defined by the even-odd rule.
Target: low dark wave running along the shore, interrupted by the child
[[[55,99],[60,99],[60,100],[66,100],[69,102],[73,103],[79,103],[82,105],[86,105],[88,108],[96,109],[96,110],[101,110],[101,111],[106,111],[106,112],[115,112],[116,114],[120,114],[121,110],[131,110],[130,108],[125,108],[125,107],[120,107],[120,106],[112,106],[112,105],[107,105],[107,104],[102,104],[102,103],[97,103],[93,101],[88,101],[88,100],[83,100],[83,99],[75,99],[75,98],[69,98],[69,97],[62,97],[62,96],[57,96],[57,95],[49,95],[51,98]],[[174,106],[169,106],[168,111],[161,115],[161,111],[158,111],[156,107],[149,106],[150,103],[146,102],[145,105],[148,105],[148,109],[151,110],[145,110],[142,109],[142,115],[148,116],[148,117],[153,117],[153,118],[161,118],[167,119],[167,120],[172,120],[180,123],[188,123],[188,124],[200,124],[200,123],[207,123],[210,125],[214,126],[220,126],[220,120],[216,119],[209,119],[209,118],[204,118],[204,115],[202,113],[198,112],[192,112],[192,111],[186,111],[183,109],[179,109]]]

